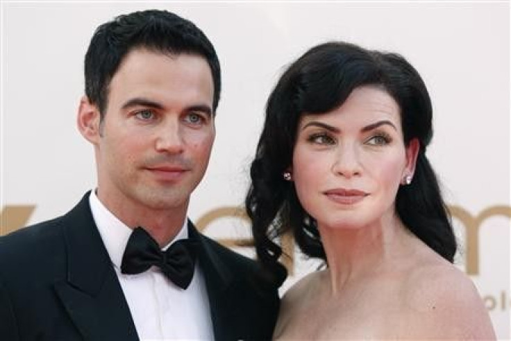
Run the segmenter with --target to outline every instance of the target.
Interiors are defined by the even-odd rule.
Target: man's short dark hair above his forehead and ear
[[[213,85],[213,112],[221,89],[220,64],[208,37],[192,21],[166,10],[144,10],[119,15],[94,32],[85,54],[85,94],[97,105],[101,120],[108,103],[108,86],[122,60],[133,49],[148,49],[170,55],[187,53],[209,64]]]

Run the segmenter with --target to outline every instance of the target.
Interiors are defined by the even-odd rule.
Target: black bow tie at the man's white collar
[[[186,289],[194,275],[195,258],[195,241],[181,239],[162,251],[146,230],[137,227],[131,233],[124,250],[121,272],[140,274],[151,268],[151,265],[156,265],[176,286]]]

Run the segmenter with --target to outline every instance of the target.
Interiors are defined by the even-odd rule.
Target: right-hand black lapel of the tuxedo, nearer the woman
[[[188,231],[190,238],[199,241],[199,266],[206,281],[215,340],[233,340],[235,335],[232,331],[237,312],[232,300],[226,299],[233,287],[233,272],[222,261],[219,252],[212,247],[214,242],[200,234],[190,220]]]

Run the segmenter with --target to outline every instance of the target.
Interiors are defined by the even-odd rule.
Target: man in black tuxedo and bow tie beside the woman
[[[0,238],[0,340],[269,339],[280,280],[187,220],[215,139],[215,49],[147,10],[99,26],[78,129],[97,189]]]

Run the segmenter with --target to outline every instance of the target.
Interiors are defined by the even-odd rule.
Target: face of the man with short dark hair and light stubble
[[[103,204],[187,209],[215,139],[213,89],[208,62],[197,55],[126,55],[92,141]]]

